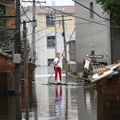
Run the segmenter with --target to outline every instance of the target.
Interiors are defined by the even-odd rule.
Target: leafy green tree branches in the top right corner
[[[110,15],[111,22],[115,26],[120,26],[120,0],[96,0],[103,9],[103,13],[107,12]]]

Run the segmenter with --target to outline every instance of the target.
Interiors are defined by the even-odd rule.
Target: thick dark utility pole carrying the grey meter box
[[[21,54],[21,40],[20,40],[20,0],[16,2],[16,31],[15,35],[15,54]],[[19,64],[15,64],[15,94],[21,93],[21,67]]]

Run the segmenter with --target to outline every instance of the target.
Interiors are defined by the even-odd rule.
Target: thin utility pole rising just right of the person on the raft
[[[65,24],[64,24],[64,15],[62,15],[62,26],[63,26],[63,39],[64,39],[64,49],[66,47],[66,37],[65,37]],[[65,68],[66,68],[66,82],[67,81],[67,48],[65,49]]]

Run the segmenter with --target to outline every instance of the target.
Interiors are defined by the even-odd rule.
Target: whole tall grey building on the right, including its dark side
[[[104,18],[110,18],[107,13],[102,14],[101,5],[96,4],[95,0],[78,0],[77,2],[90,8]],[[109,64],[120,59],[119,29],[116,29],[109,20],[98,17],[77,3],[75,3],[75,16],[96,22],[92,23],[80,18],[75,19],[77,71],[82,70],[83,59],[87,55],[105,55]]]

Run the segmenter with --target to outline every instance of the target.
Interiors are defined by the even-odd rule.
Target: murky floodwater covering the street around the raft
[[[52,67],[38,67],[32,88],[21,96],[0,97],[0,120],[97,120],[96,89],[87,83],[42,85],[52,71]],[[76,82],[75,78],[67,79]],[[63,82],[66,82],[64,74]]]

